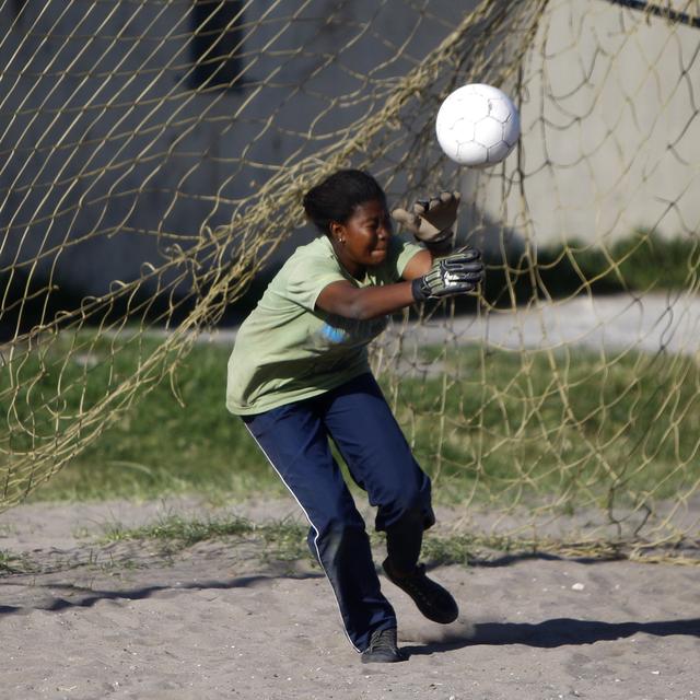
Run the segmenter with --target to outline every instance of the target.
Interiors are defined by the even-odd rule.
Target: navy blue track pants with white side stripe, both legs
[[[423,529],[435,522],[430,479],[371,374],[243,420],[308,518],[311,551],[332,586],[348,638],[364,651],[372,632],[396,627],[396,615],[380,590],[364,521],[329,439],[377,506],[375,527],[386,532],[398,571],[413,569]]]

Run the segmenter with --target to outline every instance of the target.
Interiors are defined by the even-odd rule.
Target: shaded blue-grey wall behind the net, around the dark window
[[[243,4],[242,79],[209,92],[190,89],[189,0],[2,5],[0,267],[44,256],[23,269],[93,294],[138,278],[341,138],[474,3]]]

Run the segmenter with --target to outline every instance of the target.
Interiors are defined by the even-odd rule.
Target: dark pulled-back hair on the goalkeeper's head
[[[380,184],[364,171],[337,171],[312,187],[303,199],[304,211],[318,231],[330,235],[330,223],[345,223],[355,207],[366,201],[386,202]]]

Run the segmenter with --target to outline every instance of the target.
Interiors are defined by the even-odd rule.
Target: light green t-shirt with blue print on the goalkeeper
[[[392,237],[386,260],[357,280],[342,268],[326,236],[296,248],[236,334],[226,408],[241,416],[260,413],[369,372],[366,346],[384,330],[386,318],[343,318],[316,308],[316,300],[339,280],[359,288],[398,282],[421,249]]]

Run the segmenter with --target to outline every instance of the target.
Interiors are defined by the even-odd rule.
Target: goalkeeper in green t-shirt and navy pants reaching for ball
[[[338,171],[304,197],[323,234],[299,247],[245,319],[229,361],[226,406],[242,417],[311,524],[308,546],[328,578],[363,662],[398,662],[396,615],[380,590],[362,517],[332,457],[377,508],[386,576],[435,622],[458,615],[418,563],[435,517],[430,479],[370,373],[366,346],[387,315],[474,291],[477,250],[450,254],[459,197],[443,192],[393,212],[423,245],[392,233],[386,196],[361,171]],[[442,257],[439,257],[442,256]]]

